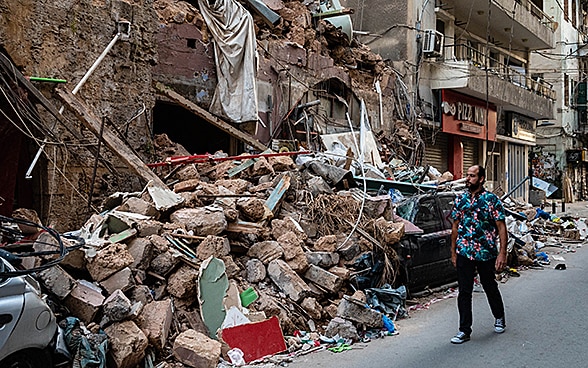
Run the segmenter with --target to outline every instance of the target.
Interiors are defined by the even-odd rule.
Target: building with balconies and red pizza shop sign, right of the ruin
[[[352,6],[352,2],[347,2]],[[353,15],[360,39],[410,86],[425,164],[460,178],[487,164],[507,192],[528,175],[536,121],[553,119],[559,91],[536,73],[535,51],[555,46],[557,19],[535,1],[376,2]],[[514,196],[528,199],[528,184]]]

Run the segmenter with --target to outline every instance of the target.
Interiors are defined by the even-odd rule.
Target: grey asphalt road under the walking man
[[[298,357],[289,367],[588,367],[588,243],[576,250],[560,254],[565,270],[552,262],[500,284],[507,322],[501,335],[485,294],[474,293],[472,339],[462,345],[449,342],[458,326],[452,298],[397,321],[397,336]]]

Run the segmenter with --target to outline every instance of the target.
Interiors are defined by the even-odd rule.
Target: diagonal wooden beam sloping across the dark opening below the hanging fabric
[[[225,133],[232,135],[233,137],[239,139],[242,142],[247,143],[248,145],[252,146],[257,150],[264,151],[267,149],[266,146],[264,146],[257,139],[253,138],[251,135],[240,131],[239,129],[233,127],[229,123],[212,115],[210,112],[204,110],[200,106],[196,105],[192,101],[188,100],[187,98],[175,92],[171,88],[165,86],[164,84],[159,82],[156,83],[155,89],[158,90],[160,93],[164,94],[165,96],[171,98],[184,108],[188,109],[188,111],[192,112],[194,115],[197,115],[198,117],[208,121],[210,124],[216,126]]]

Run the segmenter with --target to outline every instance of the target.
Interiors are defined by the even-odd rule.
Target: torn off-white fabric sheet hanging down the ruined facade
[[[210,111],[235,123],[257,121],[251,14],[234,0],[198,0],[198,4],[214,39],[218,84]]]

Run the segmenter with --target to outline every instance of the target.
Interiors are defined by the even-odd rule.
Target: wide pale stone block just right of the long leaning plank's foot
[[[227,219],[222,208],[200,207],[182,208],[170,215],[170,220],[194,231],[194,235],[218,235],[226,230]]]

